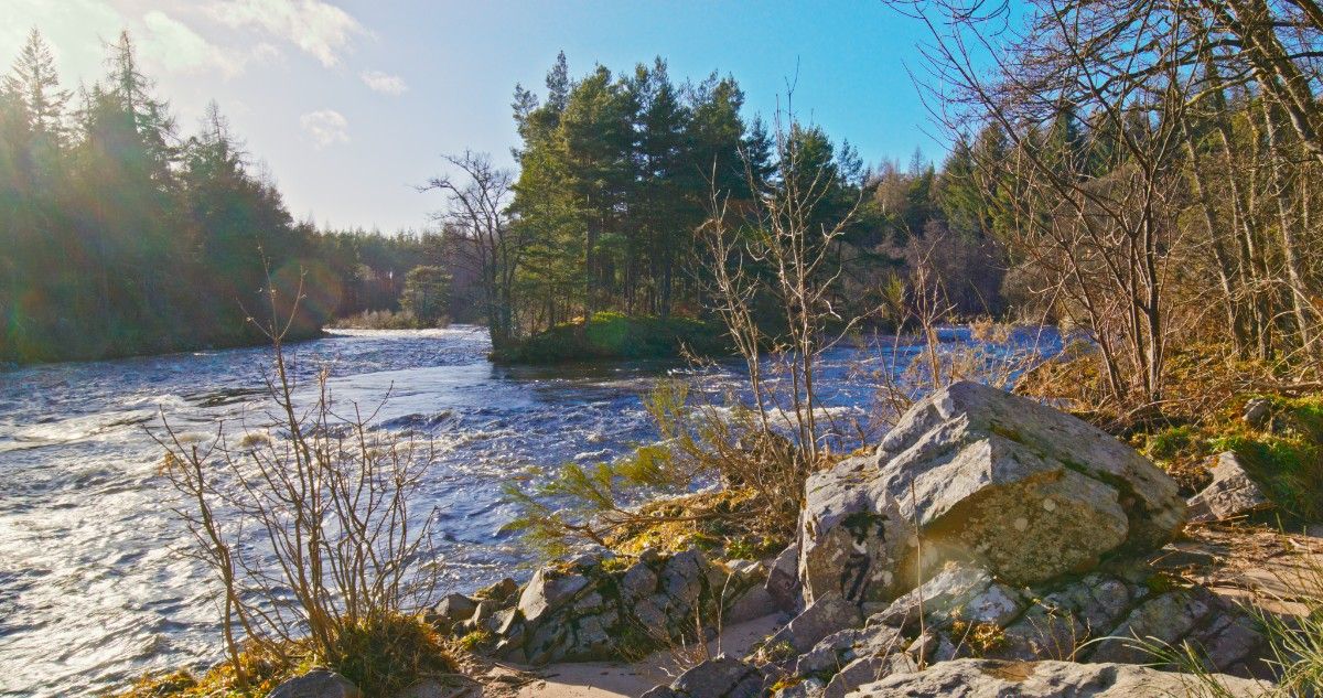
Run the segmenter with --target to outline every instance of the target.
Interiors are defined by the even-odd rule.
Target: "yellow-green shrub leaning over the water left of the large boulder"
[[[749,554],[750,541],[770,549],[790,537],[811,469],[800,449],[763,431],[747,408],[691,401],[679,381],[659,382],[644,406],[659,443],[610,463],[568,463],[533,486],[507,485],[507,500],[519,509],[511,527],[550,555],[565,554],[577,539],[624,549],[744,541],[736,545]],[[703,484],[722,490],[632,506]],[[640,541],[650,542],[635,545]]]

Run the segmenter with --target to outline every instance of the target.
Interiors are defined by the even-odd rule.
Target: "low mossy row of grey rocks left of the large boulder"
[[[509,608],[478,604],[468,628],[493,635],[496,656],[520,664],[632,657],[692,639],[718,616],[769,611],[761,563],[709,561],[697,550],[636,559],[610,553],[582,555],[538,570]]]

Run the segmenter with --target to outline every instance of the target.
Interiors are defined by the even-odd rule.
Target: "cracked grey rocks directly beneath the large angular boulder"
[[[984,570],[950,563],[933,579],[843,625],[810,650],[778,664],[791,679],[855,687],[865,668],[960,657],[1146,664],[1138,641],[1188,645],[1209,670],[1261,673],[1265,640],[1253,619],[1203,587],[1172,587],[1139,563],[1050,586],[1016,588]],[[812,605],[810,609],[814,608]],[[819,631],[823,625],[818,625]],[[783,628],[778,636],[792,636]],[[773,636],[767,644],[778,639]],[[853,674],[844,669],[861,660]],[[894,664],[885,664],[896,670]],[[881,676],[881,674],[877,674]],[[816,695],[816,694],[815,694]]]

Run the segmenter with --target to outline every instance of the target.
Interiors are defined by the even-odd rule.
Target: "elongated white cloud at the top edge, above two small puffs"
[[[352,15],[321,0],[224,0],[208,12],[229,26],[283,37],[327,67],[340,63],[356,34],[366,33]]]

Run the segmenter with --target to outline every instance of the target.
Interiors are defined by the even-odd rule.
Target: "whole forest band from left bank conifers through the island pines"
[[[0,361],[259,342],[271,288],[277,315],[302,288],[291,337],[310,337],[401,309],[417,266],[448,276],[443,316],[488,321],[497,346],[597,311],[700,317],[695,230],[710,193],[738,205],[774,186],[773,136],[742,114],[734,78],[676,85],[659,58],[572,79],[561,56],[544,98],[516,90],[517,173],[464,153],[423,186],[448,194],[434,230],[318,230],[294,221],[218,107],[180,135],[130,36],[108,50],[107,75],[74,94],[33,30],[0,86]],[[872,303],[935,247],[960,312],[1002,308],[999,252],[947,173],[964,163],[865,169],[808,124],[794,141],[831,182],[816,219],[859,209],[839,297]]]

